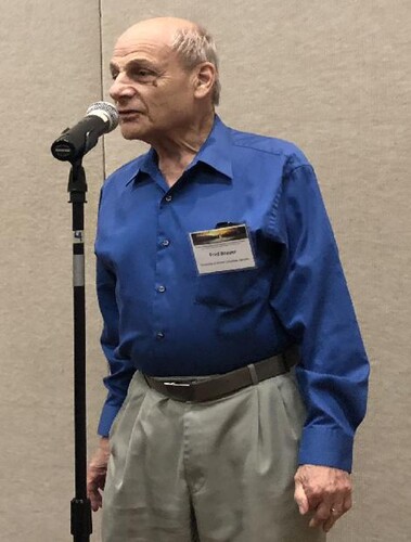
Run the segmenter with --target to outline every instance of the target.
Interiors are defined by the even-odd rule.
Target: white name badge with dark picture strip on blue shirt
[[[200,274],[256,267],[245,224],[193,232],[190,240]]]

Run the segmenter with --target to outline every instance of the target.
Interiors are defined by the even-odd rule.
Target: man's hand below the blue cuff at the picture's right
[[[322,527],[325,532],[333,527],[352,505],[351,478],[339,468],[301,465],[295,477],[294,499],[299,513],[313,511],[310,527]]]

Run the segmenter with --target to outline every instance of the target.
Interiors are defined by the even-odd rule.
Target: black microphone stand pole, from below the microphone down
[[[70,503],[70,533],[74,542],[89,542],[92,533],[91,503],[87,498],[86,424],[86,288],[85,203],[87,182],[81,157],[72,162],[68,180],[73,204],[73,300],[74,300],[74,429],[75,489]]]

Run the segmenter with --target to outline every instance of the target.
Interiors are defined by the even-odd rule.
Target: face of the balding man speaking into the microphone
[[[193,75],[170,48],[171,33],[134,27],[116,43],[111,70],[123,136],[152,143],[189,127],[194,109]]]

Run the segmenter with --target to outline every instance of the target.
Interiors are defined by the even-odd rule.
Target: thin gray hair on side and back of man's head
[[[220,103],[221,85],[218,76],[218,55],[213,36],[203,26],[180,28],[176,31],[171,48],[180,55],[187,69],[202,62],[210,62],[216,67],[216,81],[213,89],[213,104]]]

